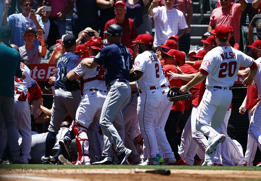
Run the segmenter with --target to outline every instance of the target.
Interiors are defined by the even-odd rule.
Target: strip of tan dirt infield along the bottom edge
[[[144,169],[145,170],[145,169]],[[149,170],[149,169],[147,169]],[[0,170],[0,180],[28,181],[202,181],[202,180],[260,180],[260,171],[243,170],[170,170],[171,174],[135,173],[134,169],[51,169],[51,170]]]

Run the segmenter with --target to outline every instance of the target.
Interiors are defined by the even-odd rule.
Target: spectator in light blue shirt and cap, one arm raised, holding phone
[[[25,45],[23,33],[26,28],[32,27],[35,31],[41,29],[44,31],[43,22],[39,15],[31,12],[34,2],[32,0],[21,0],[20,8],[22,13],[12,14],[7,17],[7,9],[11,0],[6,1],[2,25],[9,25],[12,29],[12,38],[10,43],[16,44],[18,47]],[[34,45],[39,46],[39,41],[35,40]]]

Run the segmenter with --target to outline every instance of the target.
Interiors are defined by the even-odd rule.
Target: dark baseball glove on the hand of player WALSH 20
[[[167,93],[167,99],[171,102],[177,102],[185,99],[190,99],[193,96],[190,91],[186,92],[185,94],[180,94],[179,89],[179,87],[170,88]]]

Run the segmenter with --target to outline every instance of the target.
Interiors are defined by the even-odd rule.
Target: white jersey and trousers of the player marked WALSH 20
[[[198,106],[196,129],[210,138],[208,144],[220,134],[232,100],[231,86],[239,67],[252,64],[253,58],[229,46],[218,46],[205,55],[199,71],[208,76],[206,90]],[[255,68],[255,65],[250,68]],[[205,161],[213,162],[214,155],[215,152],[206,154]]]

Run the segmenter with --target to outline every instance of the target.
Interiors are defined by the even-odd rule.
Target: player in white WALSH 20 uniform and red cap
[[[250,67],[249,76],[243,81],[248,85],[257,72],[253,59],[234,48],[226,46],[229,31],[225,26],[217,26],[212,30],[217,42],[216,48],[209,51],[203,59],[196,76],[180,88],[180,93],[186,93],[191,87],[206,79],[206,90],[197,112],[196,129],[208,136],[208,147],[205,155],[205,165],[214,165],[213,159],[218,143],[226,139],[220,134],[221,125],[231,100],[233,85],[239,66]],[[238,65],[239,64],[239,65]],[[210,124],[211,121],[211,124]]]

